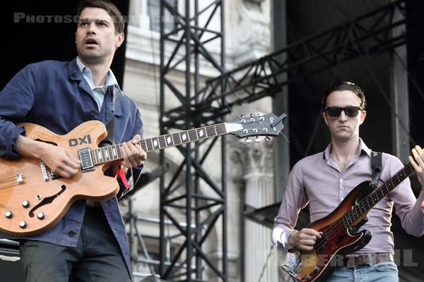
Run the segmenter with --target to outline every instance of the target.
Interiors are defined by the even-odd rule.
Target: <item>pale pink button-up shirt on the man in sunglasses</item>
[[[295,164],[288,178],[278,216],[274,220],[271,235],[274,244],[282,245],[285,249],[293,247],[288,243],[288,237],[293,232],[300,209],[308,203],[310,204],[310,221],[317,221],[333,212],[353,188],[365,180],[371,180],[371,150],[363,140],[360,140],[359,152],[351,159],[343,172],[331,158],[331,144],[324,153],[306,157]],[[389,180],[403,167],[396,157],[391,154],[382,154],[380,179]],[[372,252],[394,254],[393,233],[390,231],[393,206],[406,232],[415,236],[423,235],[424,214],[420,207],[423,200],[424,192],[420,192],[418,200],[413,195],[408,178],[391,190],[367,214],[369,221],[359,230],[370,231],[372,239],[355,254],[363,255]]]

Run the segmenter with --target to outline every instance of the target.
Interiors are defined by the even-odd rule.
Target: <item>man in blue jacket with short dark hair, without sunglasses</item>
[[[78,16],[76,59],[30,64],[1,90],[0,157],[40,159],[54,173],[71,178],[81,171],[81,161],[65,148],[25,137],[25,128],[16,123],[35,123],[64,135],[86,121],[105,125],[112,121],[123,160],[106,173],[114,176],[122,165],[131,183],[141,172],[146,152],[139,145],[143,132],[139,109],[110,70],[114,52],[124,42],[124,20],[108,0],[81,2]],[[26,282],[131,280],[117,197],[77,200],[57,225],[40,235],[0,235],[20,240]]]

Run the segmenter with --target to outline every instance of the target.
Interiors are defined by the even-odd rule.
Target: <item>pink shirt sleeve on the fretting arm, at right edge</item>
[[[394,176],[404,165],[399,159],[393,157],[390,159],[389,167],[391,176]],[[420,204],[424,200],[424,192],[421,191],[418,199],[416,199],[411,189],[411,181],[406,178],[389,195],[394,202],[396,214],[401,219],[401,224],[405,231],[417,237],[423,235],[424,214]]]

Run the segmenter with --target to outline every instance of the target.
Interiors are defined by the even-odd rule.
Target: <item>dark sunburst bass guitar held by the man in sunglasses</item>
[[[335,269],[332,266],[338,255],[356,252],[370,242],[370,231],[358,232],[366,223],[370,209],[413,172],[413,166],[407,164],[380,187],[373,188],[370,181],[360,183],[331,214],[310,223],[307,228],[322,232],[322,238],[312,251],[289,250],[288,264],[283,269],[295,281],[326,281]]]

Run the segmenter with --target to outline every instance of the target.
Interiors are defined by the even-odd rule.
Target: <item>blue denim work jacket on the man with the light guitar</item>
[[[0,157],[19,156],[13,145],[18,135],[25,135],[25,129],[15,123],[36,123],[57,135],[64,135],[85,121],[98,120],[107,124],[114,116],[115,142],[129,141],[136,134],[142,136],[139,109],[117,85],[113,97],[105,99],[100,111],[91,91],[75,59],[70,62],[42,61],[23,68],[0,93]],[[135,179],[141,168],[132,169]],[[85,207],[85,200],[74,202],[56,226],[28,239],[75,247]],[[102,208],[131,274],[128,240],[117,198],[103,201]],[[13,239],[4,233],[0,233],[0,238]]]

